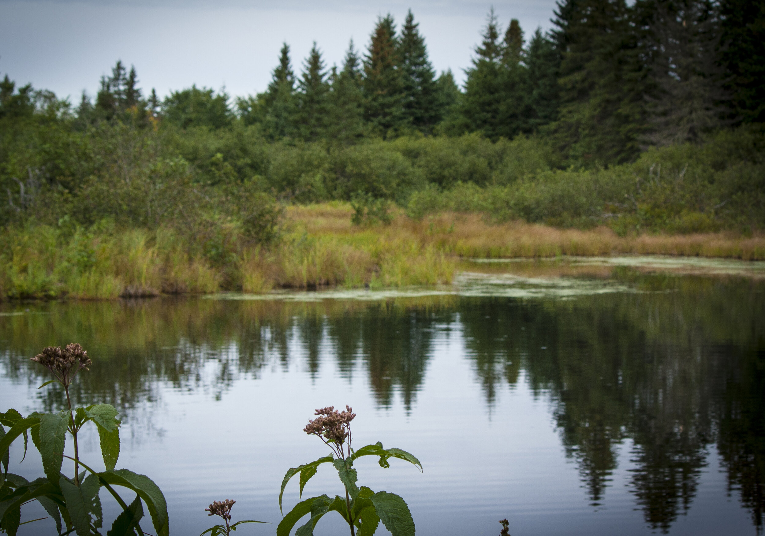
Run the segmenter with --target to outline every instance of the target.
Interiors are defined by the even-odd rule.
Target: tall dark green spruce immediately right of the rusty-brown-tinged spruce
[[[435,71],[428,60],[425,38],[418,30],[412,10],[406,15],[399,42],[401,59],[404,120],[420,132],[429,134],[441,121]]]

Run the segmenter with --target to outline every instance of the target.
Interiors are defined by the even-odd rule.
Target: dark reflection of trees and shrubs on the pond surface
[[[110,401],[130,415],[157,398],[159,380],[220,398],[237,378],[258,377],[265,366],[287,370],[299,348],[311,378],[332,356],[347,382],[367,376],[379,407],[399,395],[407,411],[417,411],[435,335],[458,332],[487,412],[521,381],[549,401],[565,454],[594,507],[604,501],[629,440],[634,501],[650,528],[668,532],[692,508],[702,469],[717,449],[729,492],[759,530],[763,282],[616,270],[608,277],[630,292],[568,300],[442,294],[5,306],[2,367],[6,378],[37,384],[44,375],[28,357],[43,346],[79,341],[94,364],[77,384],[77,403]],[[63,404],[55,389],[39,396],[47,411]]]

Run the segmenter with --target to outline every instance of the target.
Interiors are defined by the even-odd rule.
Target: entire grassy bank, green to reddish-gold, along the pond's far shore
[[[235,225],[203,236],[159,227],[7,226],[0,296],[112,299],[158,294],[259,293],[277,288],[449,284],[458,258],[662,254],[765,259],[765,236],[733,233],[618,236],[606,227],[494,225],[477,213],[353,226],[347,203],[291,206],[282,234],[252,243]]]

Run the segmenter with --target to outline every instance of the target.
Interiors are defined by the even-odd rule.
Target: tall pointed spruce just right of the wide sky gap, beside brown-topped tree
[[[473,65],[465,70],[465,93],[461,103],[464,124],[471,131],[496,139],[503,125],[503,46],[498,21],[491,8],[480,46],[475,48]]]

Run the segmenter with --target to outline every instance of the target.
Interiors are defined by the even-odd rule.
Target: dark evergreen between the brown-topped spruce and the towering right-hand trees
[[[542,35],[539,28],[529,41],[525,62],[531,108],[529,128],[534,132],[557,119],[558,70],[561,64],[555,42]]]

